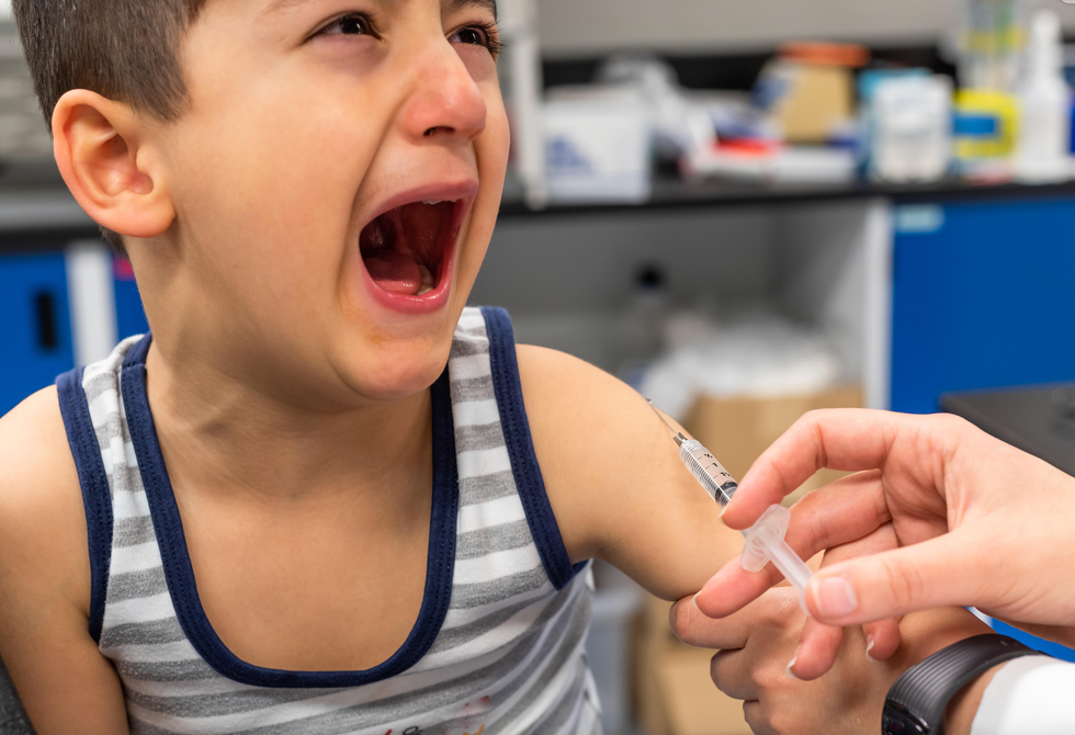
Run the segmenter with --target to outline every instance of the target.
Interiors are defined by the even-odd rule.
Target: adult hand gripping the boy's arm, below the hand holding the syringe
[[[840,629],[834,629],[839,655],[831,670],[802,681],[787,675],[805,620],[792,589],[769,590],[724,620],[702,615],[689,599],[677,602],[670,614],[680,640],[721,648],[711,665],[713,682],[744,700],[744,716],[756,735],[874,735],[885,694],[904,670],[955,641],[988,631],[960,608],[908,615],[899,625],[904,644],[889,660],[878,662],[865,656],[859,629],[845,631],[842,637]],[[976,709],[976,702],[972,706]],[[968,732],[970,719],[961,715],[962,726],[949,732]]]

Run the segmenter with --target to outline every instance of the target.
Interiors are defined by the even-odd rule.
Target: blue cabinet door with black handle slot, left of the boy
[[[75,364],[63,252],[0,258],[0,415]]]

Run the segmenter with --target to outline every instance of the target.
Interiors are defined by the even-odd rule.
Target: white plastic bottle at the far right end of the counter
[[[1030,22],[1027,74],[1019,88],[1019,146],[1016,178],[1028,183],[1070,177],[1071,90],[1063,74],[1060,19],[1039,10]]]

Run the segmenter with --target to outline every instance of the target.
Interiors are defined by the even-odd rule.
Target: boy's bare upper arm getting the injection
[[[743,540],[721,522],[720,504],[683,466],[645,398],[564,353],[517,353],[534,451],[572,561],[608,561],[667,600],[701,589]]]

